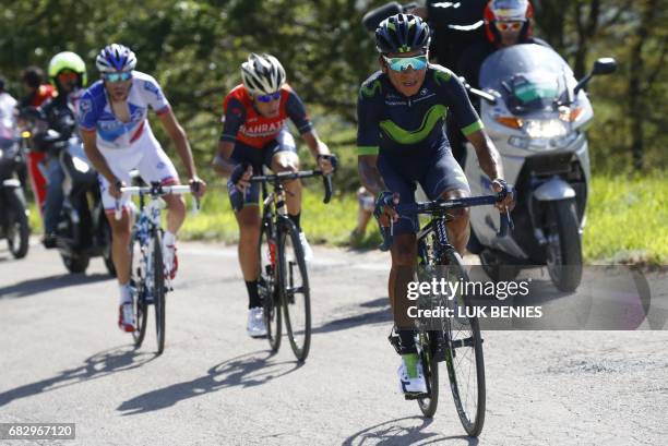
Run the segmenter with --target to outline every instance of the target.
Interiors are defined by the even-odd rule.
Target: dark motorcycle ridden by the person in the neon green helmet
[[[33,116],[45,120],[38,109]],[[49,162],[60,162],[64,172],[63,205],[56,229],[56,248],[70,273],[85,273],[91,257],[102,256],[108,273],[116,275],[111,260],[111,228],[105,216],[97,172],[88,161],[73,114],[62,113],[60,122],[39,135],[39,149],[48,150]]]

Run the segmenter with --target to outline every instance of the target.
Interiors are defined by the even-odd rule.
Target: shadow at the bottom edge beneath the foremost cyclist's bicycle
[[[431,419],[421,417],[405,417],[363,429],[346,438],[342,446],[357,445],[433,445],[448,441],[457,441],[458,444],[467,442],[469,446],[478,444],[478,438],[465,435],[443,436],[432,432],[422,432],[432,423]]]

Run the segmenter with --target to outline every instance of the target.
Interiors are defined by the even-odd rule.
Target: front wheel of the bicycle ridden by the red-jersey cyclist
[[[309,276],[297,227],[287,218],[283,218],[281,225],[278,268],[285,326],[293,352],[298,361],[303,361],[311,346]]]

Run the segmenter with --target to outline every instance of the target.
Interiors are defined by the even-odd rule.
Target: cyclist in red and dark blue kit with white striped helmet
[[[251,337],[262,337],[266,335],[266,327],[258,293],[260,186],[249,180],[253,173],[261,174],[263,166],[274,172],[299,170],[295,138],[287,129],[288,118],[315,156],[320,169],[330,173],[335,158],[318,137],[301,99],[286,83],[278,59],[251,53],[241,65],[241,79],[242,84],[232,88],[223,103],[223,133],[213,168],[229,177],[227,190],[239,224],[239,263],[249,298],[247,332]],[[288,217],[299,230],[305,258],[309,261],[313,254],[300,226],[301,183],[287,181],[285,189]]]

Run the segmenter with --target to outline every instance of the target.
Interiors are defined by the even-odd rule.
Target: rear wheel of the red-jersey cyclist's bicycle
[[[277,282],[277,246],[273,236],[271,220],[265,219],[260,233],[260,277],[258,279],[258,291],[264,308],[264,324],[266,325],[266,337],[272,351],[278,351],[281,347],[282,320],[281,320],[281,294]]]

